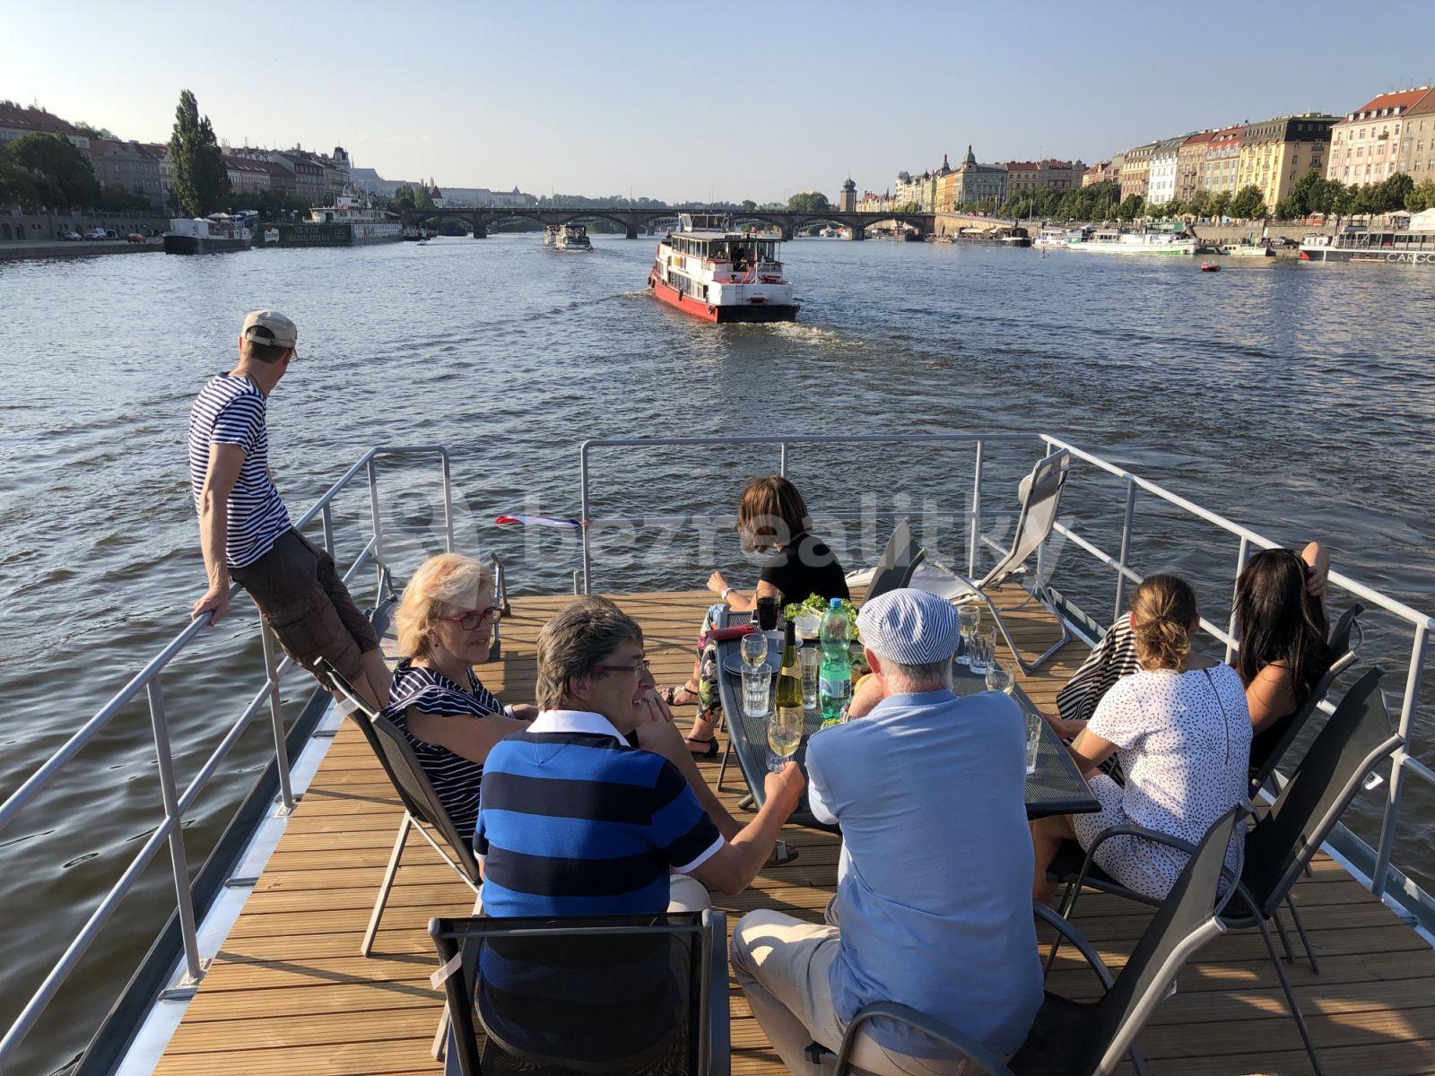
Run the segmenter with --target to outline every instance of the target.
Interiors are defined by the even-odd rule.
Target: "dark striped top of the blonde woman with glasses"
[[[502,710],[502,703],[484,687],[472,669],[468,670],[465,690],[436,669],[415,667],[412,659],[406,657],[393,670],[389,704],[383,707],[382,716],[393,722],[413,747],[423,775],[433,786],[433,795],[449,812],[459,838],[471,841],[478,821],[478,783],[484,778],[484,768],[409,732],[410,707],[441,717],[484,717]]]

